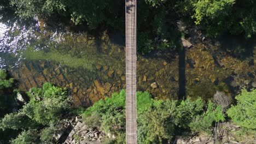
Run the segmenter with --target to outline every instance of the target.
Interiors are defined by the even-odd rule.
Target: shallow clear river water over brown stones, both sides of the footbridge
[[[109,38],[104,32],[94,37],[45,26],[38,20],[1,21],[0,68],[8,69],[19,80],[22,91],[52,82],[68,87],[74,105],[89,106],[125,88],[122,40],[120,35]],[[161,99],[177,99],[184,94],[208,99],[216,91],[231,96],[243,86],[252,88],[256,47],[245,58],[234,56],[236,49],[222,47],[222,41],[201,41],[179,53],[138,55],[138,91],[149,91]]]

